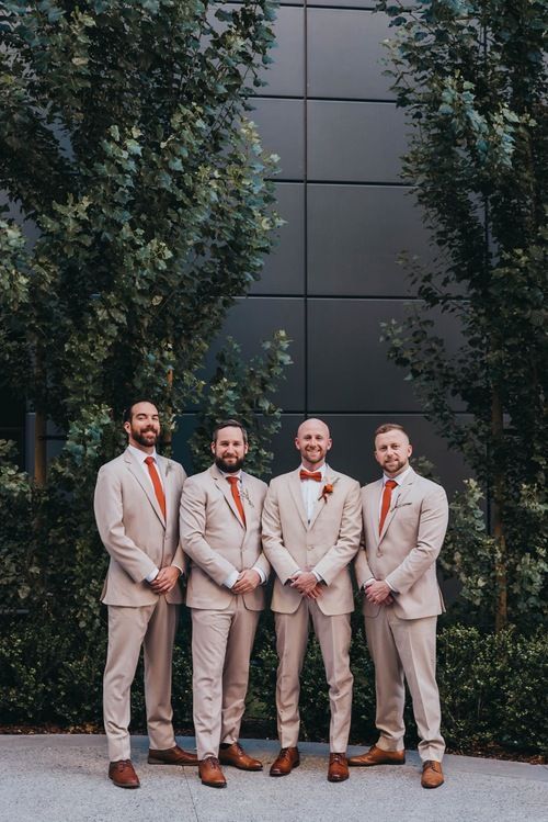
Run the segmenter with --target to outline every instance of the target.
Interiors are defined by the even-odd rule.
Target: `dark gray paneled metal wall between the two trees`
[[[238,301],[214,349],[231,334],[252,354],[276,328],[294,340],[294,365],[276,397],[284,417],[274,473],[296,466],[296,428],[320,416],[333,433],[332,465],[369,482],[379,473],[373,432],[391,420],[455,488],[466,465],[426,421],[379,339],[383,322],[421,306],[399,255],[435,264],[413,181],[401,177],[408,127],[383,74],[388,20],[364,0],[283,2],[275,31],[274,63],[251,117],[264,147],[281,157],[277,211],[286,224],[261,282]],[[456,351],[458,322],[437,316],[435,328]],[[463,404],[454,407],[466,423]]]

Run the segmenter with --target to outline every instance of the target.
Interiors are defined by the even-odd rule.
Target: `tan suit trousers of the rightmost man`
[[[377,745],[384,751],[403,750],[407,679],[423,762],[442,762],[445,751],[436,684],[436,622],[437,617],[400,619],[390,607],[381,607],[377,617],[365,620],[375,663],[376,725],[380,732]]]

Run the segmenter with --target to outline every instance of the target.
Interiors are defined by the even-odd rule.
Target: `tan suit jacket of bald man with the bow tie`
[[[326,582],[318,607],[326,616],[350,613],[354,597],[349,563],[354,558],[362,531],[359,485],[328,466],[318,483],[318,497],[326,484],[333,486],[327,499],[318,499],[310,522],[302,503],[299,471],[275,477],[263,508],[263,549],[276,572],[272,610],[294,613],[302,601],[289,585],[296,571],[316,571]]]

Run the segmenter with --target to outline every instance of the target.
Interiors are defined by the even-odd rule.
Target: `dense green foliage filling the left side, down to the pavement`
[[[30,401],[38,435],[46,419],[67,435],[41,482],[0,443],[0,685],[12,717],[32,706],[38,721],[70,722],[96,706],[98,468],[123,448],[121,412],[136,395],[157,403],[169,439],[270,249],[275,158],[246,101],[273,20],[270,0],[0,7],[11,204],[0,213],[0,382]]]

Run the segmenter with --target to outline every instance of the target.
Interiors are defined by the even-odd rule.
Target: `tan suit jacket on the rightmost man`
[[[447,496],[441,485],[412,469],[392,492],[390,509],[378,532],[383,480],[362,489],[365,549],[355,560],[359,587],[367,579],[386,579],[393,590],[393,611],[400,619],[442,613],[444,604],[436,578],[436,558],[447,530]],[[364,613],[376,617],[383,606],[364,598]]]

